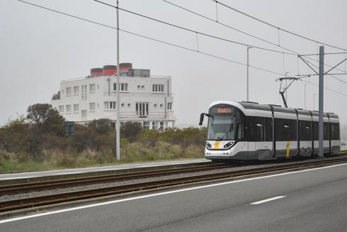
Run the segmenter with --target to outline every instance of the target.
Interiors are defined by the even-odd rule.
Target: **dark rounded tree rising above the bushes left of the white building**
[[[64,118],[51,104],[33,104],[28,107],[26,116],[29,123],[35,125],[37,133],[55,133],[64,135]]]

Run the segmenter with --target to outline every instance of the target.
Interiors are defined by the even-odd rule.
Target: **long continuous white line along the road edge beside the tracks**
[[[56,211],[50,211],[50,212],[46,212],[46,213],[42,213],[42,214],[33,214],[33,215],[28,215],[28,216],[19,216],[19,217],[13,218],[13,219],[0,220],[0,224],[11,222],[11,221],[20,221],[20,220],[23,220],[23,219],[32,219],[32,218],[36,218],[38,216],[59,214],[59,213],[63,213],[63,212],[67,212],[67,211],[74,211],[74,210],[78,210],[78,209],[88,209],[88,208],[91,208],[91,207],[103,206],[103,205],[107,205],[107,204],[116,204],[116,203],[125,202],[125,201],[132,201],[132,200],[136,200],[136,199],[144,199],[144,198],[148,198],[148,197],[156,197],[156,196],[172,194],[172,193],[176,193],[176,192],[186,192],[186,191],[191,191],[191,190],[195,190],[195,189],[205,189],[207,187],[216,187],[216,186],[221,186],[221,185],[225,185],[225,184],[234,184],[234,183],[238,183],[238,182],[246,182],[246,181],[254,180],[254,179],[266,179],[266,178],[271,178],[271,177],[280,177],[280,176],[283,176],[283,175],[290,175],[290,174],[295,174],[295,173],[300,173],[300,172],[309,172],[309,171],[314,171],[314,170],[322,170],[322,169],[326,169],[326,168],[330,168],[330,167],[339,167],[339,166],[342,166],[342,165],[347,165],[347,163],[342,163],[342,164],[339,164],[339,165],[331,165],[331,166],[326,166],[326,167],[316,167],[316,168],[312,168],[312,169],[300,170],[300,171],[294,171],[294,172],[285,172],[285,173],[280,173],[280,174],[275,174],[275,175],[268,175],[268,176],[263,176],[263,177],[253,177],[253,178],[249,178],[249,179],[238,179],[238,180],[233,180],[233,181],[229,181],[229,182],[221,182],[221,183],[216,183],[216,184],[207,184],[207,185],[202,185],[202,186],[197,186],[197,187],[190,187],[190,188],[186,188],[186,189],[177,189],[177,190],[168,191],[168,192],[159,192],[159,193],[156,193],[156,194],[147,194],[147,195],[138,196],[138,197],[130,197],[130,198],[118,199],[118,200],[114,200],[114,201],[106,201],[106,202],[101,202],[101,203],[96,203],[96,204],[89,204],[89,205],[85,205],[85,206],[77,206],[77,207],[72,207],[72,208],[69,208],[69,209],[61,209],[61,210],[56,210]]]

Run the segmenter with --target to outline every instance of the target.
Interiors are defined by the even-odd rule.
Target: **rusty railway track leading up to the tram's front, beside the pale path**
[[[183,174],[189,172],[204,172],[217,170],[221,167],[231,167],[225,164],[210,164],[198,167],[178,167],[165,170],[150,170],[141,172],[130,172],[113,175],[101,175],[96,177],[78,177],[72,179],[58,179],[44,182],[33,182],[25,184],[9,184],[0,186],[0,196],[22,194],[26,192],[40,192],[50,189],[62,189],[81,185],[102,184],[108,182],[120,182],[130,179],[144,179],[149,177],[159,177],[164,175]]]

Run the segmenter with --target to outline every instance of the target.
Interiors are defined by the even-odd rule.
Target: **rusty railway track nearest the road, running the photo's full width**
[[[52,194],[42,197],[30,197],[24,199],[16,199],[0,202],[0,212],[13,211],[16,209],[28,209],[36,206],[47,206],[51,204],[59,204],[63,202],[76,201],[82,199],[92,199],[96,197],[106,197],[116,194],[128,192],[137,192],[148,189],[158,189],[161,187],[172,187],[179,184],[190,184],[196,182],[204,182],[209,180],[227,179],[231,177],[244,177],[249,175],[258,175],[268,172],[278,172],[284,170],[300,170],[311,167],[321,167],[331,164],[339,164],[347,162],[347,158],[336,158],[332,160],[319,160],[312,162],[301,162],[290,165],[275,165],[273,167],[258,167],[249,170],[238,170],[231,172],[222,172],[208,175],[195,175],[193,177],[181,177],[175,179],[166,179],[151,182],[141,182],[137,184],[125,184],[116,187],[104,187],[100,189],[88,189],[78,192],[69,192],[63,194]]]

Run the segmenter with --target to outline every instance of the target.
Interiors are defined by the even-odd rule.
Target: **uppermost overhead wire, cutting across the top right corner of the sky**
[[[312,39],[312,38],[308,38],[308,37],[305,36],[305,35],[300,35],[300,34],[298,34],[298,33],[294,33],[294,32],[292,32],[292,31],[289,31],[289,30],[280,28],[279,26],[275,26],[275,25],[272,24],[272,23],[268,23],[268,22],[266,22],[266,21],[261,20],[260,18],[256,18],[255,16],[251,16],[249,13],[245,13],[244,11],[240,11],[240,10],[238,10],[238,9],[235,9],[235,8],[232,7],[232,6],[229,6],[229,5],[227,5],[227,4],[224,4],[224,3],[222,3],[221,1],[217,1],[217,0],[211,0],[211,1],[215,1],[217,4],[220,4],[221,6],[224,6],[224,7],[226,7],[227,9],[230,9],[230,10],[232,10],[232,11],[236,11],[237,13],[241,13],[241,14],[244,15],[244,16],[247,16],[247,17],[249,17],[249,18],[252,18],[252,19],[254,19],[254,20],[258,21],[258,22],[264,23],[264,24],[266,24],[267,26],[271,26],[272,28],[276,28],[276,29],[278,29],[278,31],[283,31],[283,32],[289,33],[289,34],[291,34],[291,35],[295,35],[295,36],[297,36],[297,37],[299,37],[299,38],[303,38],[303,39],[305,39],[305,40],[312,41],[312,42],[314,42],[314,43],[319,43],[319,44],[321,44],[321,45],[326,45],[326,46],[328,46],[328,47],[330,47],[330,48],[336,48],[336,49],[339,49],[339,50],[345,50],[345,51],[346,51],[346,48],[339,48],[339,47],[337,47],[337,46],[335,46],[335,45],[330,45],[329,43],[323,43],[323,42],[321,42],[321,41],[314,40],[314,39]]]

